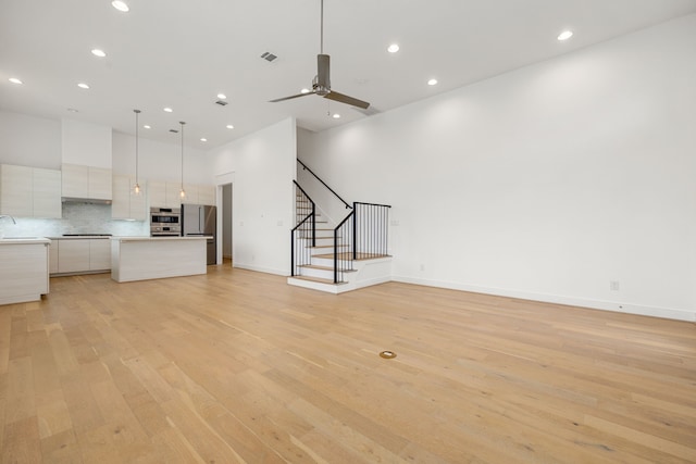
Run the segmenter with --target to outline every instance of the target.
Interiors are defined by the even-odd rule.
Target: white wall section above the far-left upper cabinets
[[[0,111],[0,163],[60,170],[60,121]]]

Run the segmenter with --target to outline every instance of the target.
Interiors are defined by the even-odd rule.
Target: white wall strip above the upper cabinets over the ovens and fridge
[[[112,168],[115,174],[135,175],[135,137],[113,133]],[[174,137],[172,143],[138,139],[138,177],[152,180],[181,181],[182,146]],[[213,184],[213,175],[203,150],[184,147],[184,183]]]

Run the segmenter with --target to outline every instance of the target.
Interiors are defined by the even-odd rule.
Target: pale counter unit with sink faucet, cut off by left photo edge
[[[48,294],[50,243],[44,237],[0,239],[0,304],[38,301]]]

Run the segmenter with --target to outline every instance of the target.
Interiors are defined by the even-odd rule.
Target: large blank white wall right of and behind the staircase
[[[696,321],[696,15],[298,138],[401,281]],[[617,281],[619,290],[611,290]]]

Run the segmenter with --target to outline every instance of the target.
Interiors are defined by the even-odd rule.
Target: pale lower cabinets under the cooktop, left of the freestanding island
[[[111,240],[58,239],[52,240],[51,274],[80,274],[111,269]],[[51,244],[53,247],[53,244]]]

